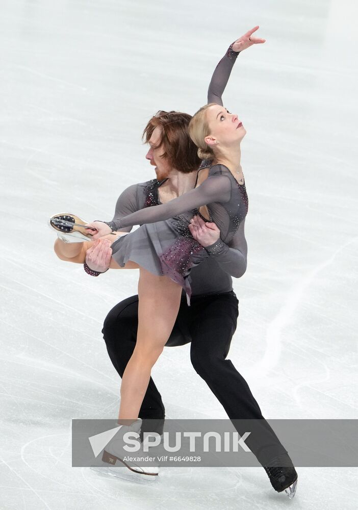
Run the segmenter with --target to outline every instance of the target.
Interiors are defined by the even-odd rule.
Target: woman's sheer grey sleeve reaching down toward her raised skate
[[[227,175],[211,175],[197,188],[184,193],[170,202],[148,207],[129,214],[119,220],[111,221],[112,230],[123,227],[155,223],[173,218],[192,209],[205,206],[211,202],[227,202],[231,197],[231,181]]]

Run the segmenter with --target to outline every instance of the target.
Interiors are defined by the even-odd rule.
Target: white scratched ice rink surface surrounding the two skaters
[[[263,415],[356,418],[357,4],[353,0],[3,0],[0,16],[0,508],[356,507],[354,468],[297,468],[294,500],[262,468],[163,468],[147,486],[71,467],[71,419],[116,418],[101,335],[137,271],[91,278],[58,260],[59,212],[110,220],[155,177],[141,133],[193,114],[228,45],[256,24],[224,93],[247,135],[248,268],[228,358]],[[153,377],[168,418],[226,418],[166,348]]]

